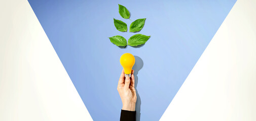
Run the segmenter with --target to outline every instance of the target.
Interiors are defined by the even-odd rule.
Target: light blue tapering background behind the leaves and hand
[[[117,91],[123,53],[135,55],[137,120],[159,120],[200,55],[235,4],[230,1],[29,1],[93,120],[119,120]],[[118,4],[131,13],[118,13]],[[127,40],[113,18],[130,24],[147,18],[142,46],[120,48],[108,37]],[[129,31],[129,29],[128,29]],[[58,72],[56,72],[58,73]]]

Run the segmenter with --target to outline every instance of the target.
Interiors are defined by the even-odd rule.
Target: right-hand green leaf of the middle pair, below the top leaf
[[[137,32],[137,31],[140,31],[144,24],[145,24],[145,20],[146,19],[137,19],[135,20],[134,22],[131,23],[130,25],[130,32]]]

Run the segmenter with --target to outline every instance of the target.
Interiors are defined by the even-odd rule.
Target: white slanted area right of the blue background
[[[256,120],[256,1],[237,1],[161,117]]]

